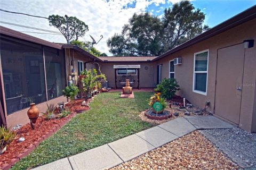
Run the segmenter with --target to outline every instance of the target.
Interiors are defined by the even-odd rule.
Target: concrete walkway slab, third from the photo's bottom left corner
[[[119,139],[115,142],[111,142],[108,145],[119,157],[123,159],[124,162],[155,149],[154,146],[150,145],[150,143],[141,139],[135,134],[123,139]]]

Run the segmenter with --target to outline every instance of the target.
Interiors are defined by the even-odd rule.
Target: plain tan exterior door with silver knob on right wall
[[[218,50],[215,114],[239,124],[244,67],[243,44]]]

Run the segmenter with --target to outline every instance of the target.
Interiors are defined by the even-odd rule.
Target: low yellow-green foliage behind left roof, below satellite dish
[[[81,48],[83,48],[86,51],[89,51],[94,56],[108,56],[106,53],[101,53],[98,49],[92,47],[92,43],[90,41],[79,41],[79,40],[73,40],[70,42],[70,44],[77,45]]]

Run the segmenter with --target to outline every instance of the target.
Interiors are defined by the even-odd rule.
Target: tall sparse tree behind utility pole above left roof
[[[63,16],[50,15],[48,17],[49,25],[58,28],[62,35],[68,41],[67,22]],[[75,16],[68,17],[69,40],[78,40],[78,37],[83,37],[89,31],[88,25],[77,19]]]

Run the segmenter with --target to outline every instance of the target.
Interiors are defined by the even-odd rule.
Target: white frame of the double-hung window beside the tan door
[[[200,54],[200,53],[204,53],[204,52],[208,52],[207,55],[207,70],[206,71],[195,71],[195,64],[196,64],[196,54]],[[208,67],[209,67],[209,49],[203,50],[201,52],[197,52],[194,53],[194,70],[193,70],[193,92],[196,92],[197,94],[201,94],[201,95],[207,95],[207,86],[208,86]],[[199,91],[199,90],[195,90],[195,75],[196,73],[206,73],[206,90],[204,91]]]

